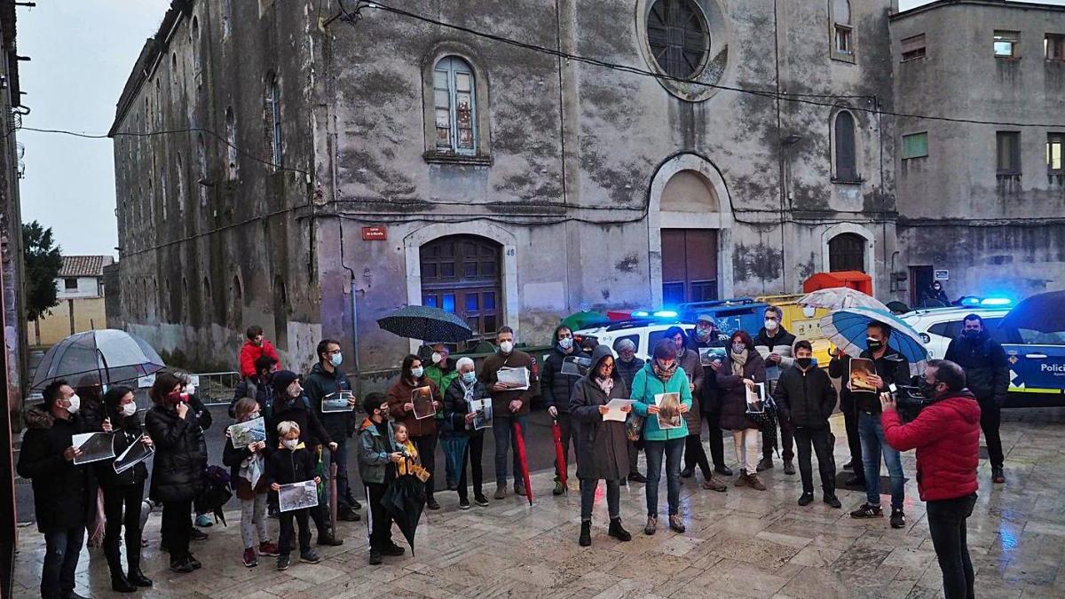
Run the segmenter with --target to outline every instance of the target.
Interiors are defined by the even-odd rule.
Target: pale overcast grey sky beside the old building
[[[929,0],[900,0],[902,10]],[[144,41],[169,0],[36,0],[18,9],[18,53],[28,127],[105,133]],[[1044,0],[1065,4],[1065,0]],[[51,227],[63,253],[116,255],[111,140],[21,131],[22,220]]]

